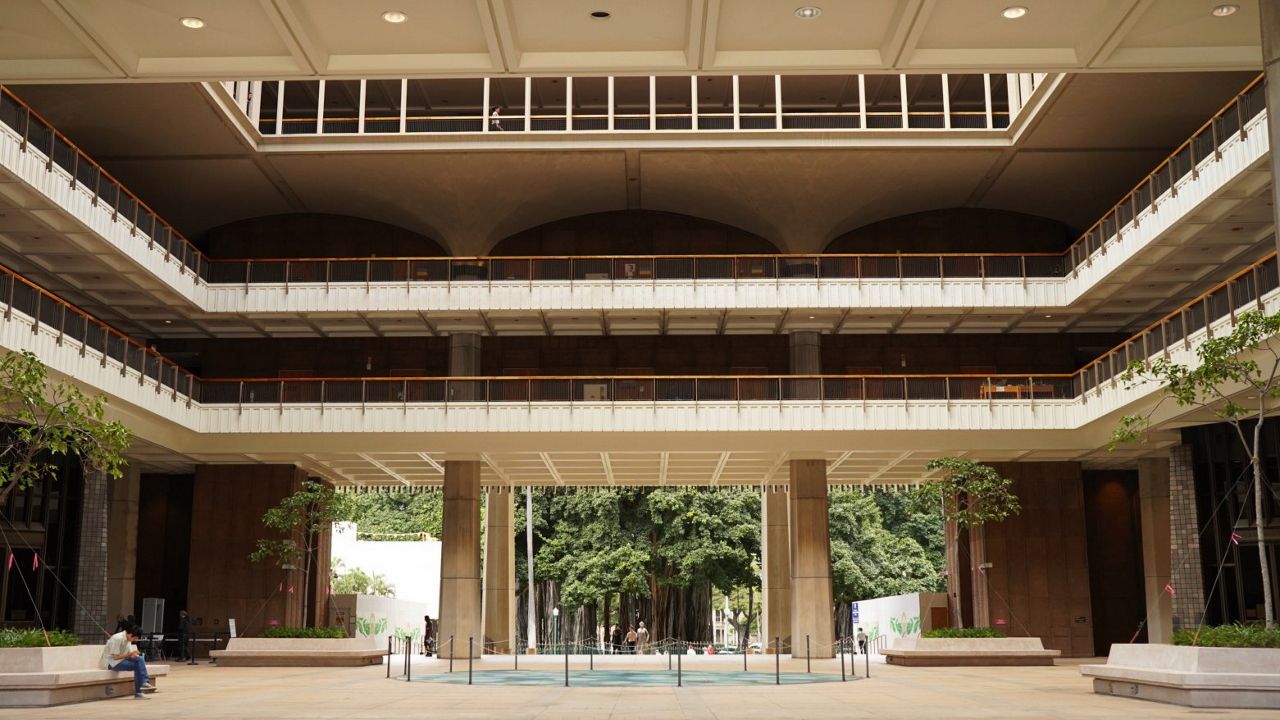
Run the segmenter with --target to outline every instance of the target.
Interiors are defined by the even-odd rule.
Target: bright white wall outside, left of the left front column
[[[422,603],[417,612],[436,616],[440,603],[440,541],[357,541],[355,523],[333,527],[334,561],[383,575],[396,588],[396,600]],[[394,629],[394,626],[393,626]]]

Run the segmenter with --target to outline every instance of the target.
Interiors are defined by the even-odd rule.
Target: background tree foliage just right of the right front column
[[[918,541],[884,528],[876,496],[833,491],[829,523],[836,602],[932,592],[940,587],[938,565]]]

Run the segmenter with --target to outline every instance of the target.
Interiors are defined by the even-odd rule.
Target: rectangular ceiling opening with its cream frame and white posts
[[[640,76],[206,83],[261,151],[1009,142],[1059,76]],[[963,138],[963,140],[961,140]]]

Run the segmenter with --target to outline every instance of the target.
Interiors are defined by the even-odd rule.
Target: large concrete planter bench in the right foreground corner
[[[1280,710],[1280,650],[1114,644],[1082,665],[1093,692],[1190,707]]]

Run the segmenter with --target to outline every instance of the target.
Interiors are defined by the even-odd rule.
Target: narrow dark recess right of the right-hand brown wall
[[[1084,520],[1089,546],[1093,644],[1106,655],[1111,643],[1126,643],[1147,615],[1143,589],[1142,525],[1138,473],[1084,473]],[[1146,632],[1139,641],[1146,639]]]

